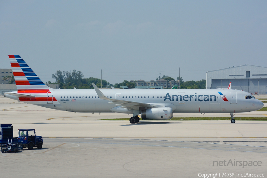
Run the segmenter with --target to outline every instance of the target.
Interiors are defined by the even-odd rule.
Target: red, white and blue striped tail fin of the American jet
[[[18,91],[29,89],[51,89],[41,81],[20,55],[8,55],[8,57]]]

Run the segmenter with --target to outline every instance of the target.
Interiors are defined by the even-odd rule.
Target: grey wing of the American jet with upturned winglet
[[[161,105],[154,105],[149,103],[142,103],[142,102],[133,102],[133,101],[124,101],[124,100],[116,100],[107,98],[98,88],[95,84],[92,84],[96,94],[98,97],[102,100],[109,100],[110,104],[115,104],[116,106],[121,106],[121,108],[128,108],[128,109],[134,109],[134,110],[143,110],[143,109],[149,109],[149,108],[161,108],[164,106]]]

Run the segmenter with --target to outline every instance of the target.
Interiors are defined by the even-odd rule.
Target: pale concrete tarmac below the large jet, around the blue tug
[[[267,117],[267,111],[237,113],[235,124],[229,120],[141,120],[130,124],[129,121],[97,121],[130,118],[128,114],[73,113],[4,97],[0,97],[0,109],[0,123],[12,124],[14,137],[18,129],[28,128],[36,129],[36,134],[44,140],[42,149],[1,153],[1,177],[267,175],[267,121],[238,119]],[[181,119],[229,116],[174,114]]]

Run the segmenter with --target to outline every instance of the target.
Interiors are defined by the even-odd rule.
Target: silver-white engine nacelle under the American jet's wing
[[[173,113],[171,112],[171,108],[151,108],[147,110],[141,111],[141,117],[143,120],[145,119],[171,119],[173,117]]]

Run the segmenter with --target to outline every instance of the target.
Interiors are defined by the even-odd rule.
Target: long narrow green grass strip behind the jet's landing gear
[[[267,108],[267,107],[266,107]],[[120,118],[120,119],[99,119],[97,121],[128,121],[130,118]],[[150,120],[150,119],[149,119]],[[171,118],[171,121],[222,121],[222,120],[231,120],[230,117],[180,117],[180,118]],[[267,117],[236,117],[236,121],[267,121]],[[142,121],[142,118],[140,118]],[[158,121],[158,120],[150,120],[150,121]]]

